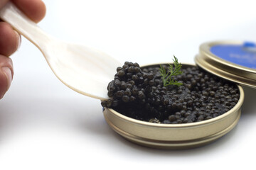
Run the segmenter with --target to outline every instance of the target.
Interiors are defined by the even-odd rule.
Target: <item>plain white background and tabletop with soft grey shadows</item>
[[[256,42],[254,1],[45,0],[38,25],[120,62],[194,63],[201,43]],[[22,39],[14,81],[0,101],[0,169],[216,169],[255,166],[256,90],[245,88],[238,125],[216,142],[181,151],[149,149],[113,132],[100,101],[68,89]]]

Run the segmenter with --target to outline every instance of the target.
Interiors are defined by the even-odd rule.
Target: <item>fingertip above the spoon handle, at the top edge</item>
[[[41,0],[13,0],[13,2],[36,23],[46,15],[46,5]]]

